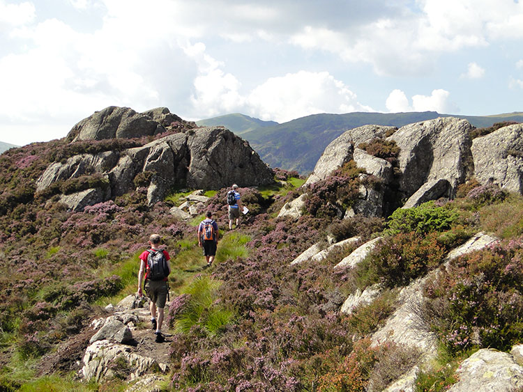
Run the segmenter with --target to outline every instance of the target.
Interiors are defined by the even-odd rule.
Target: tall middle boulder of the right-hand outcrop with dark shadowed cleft
[[[471,130],[467,120],[444,117],[405,125],[389,136],[400,148],[400,191],[409,197],[425,182],[441,179],[455,190],[473,170]]]

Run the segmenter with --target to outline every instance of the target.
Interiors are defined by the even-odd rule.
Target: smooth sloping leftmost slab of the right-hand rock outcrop
[[[369,141],[374,137],[384,137],[388,132],[393,132],[395,129],[395,127],[382,127],[380,125],[364,125],[344,132],[327,146],[305,185],[324,180],[337,168],[353,159],[354,147],[357,147],[359,143]]]

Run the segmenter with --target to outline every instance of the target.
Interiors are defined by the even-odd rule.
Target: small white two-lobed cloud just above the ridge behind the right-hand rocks
[[[448,100],[448,91],[437,89],[431,95],[414,95],[409,105],[407,95],[401,90],[393,90],[386,100],[386,108],[391,113],[404,111],[437,111],[438,113],[456,113],[459,109]]]

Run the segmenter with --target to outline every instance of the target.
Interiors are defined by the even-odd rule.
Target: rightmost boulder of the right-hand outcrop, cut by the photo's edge
[[[472,156],[476,180],[523,194],[523,124],[474,139]]]

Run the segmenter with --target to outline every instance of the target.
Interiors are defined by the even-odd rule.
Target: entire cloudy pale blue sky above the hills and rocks
[[[523,111],[523,0],[0,0],[0,141],[60,139],[109,106]]]

